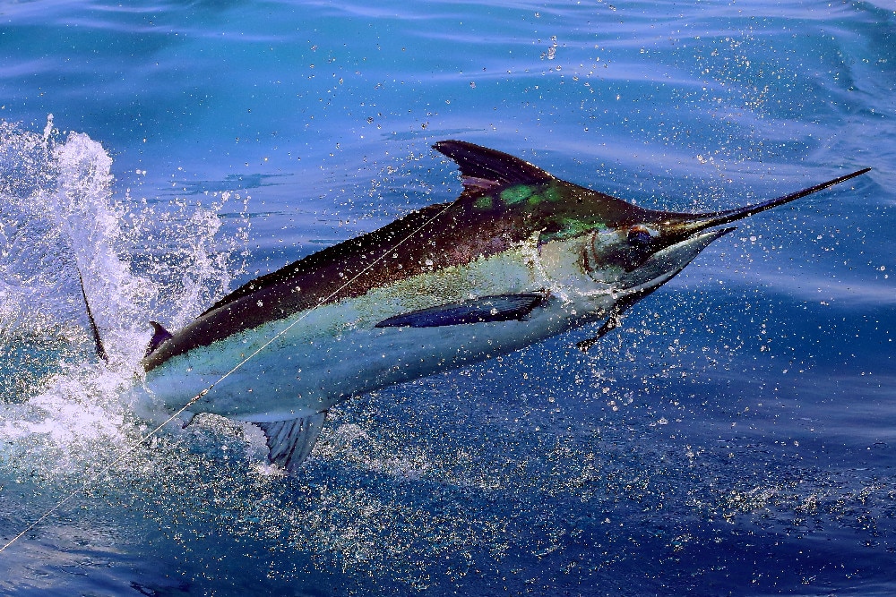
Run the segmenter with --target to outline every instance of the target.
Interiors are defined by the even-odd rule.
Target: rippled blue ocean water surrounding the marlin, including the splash
[[[0,4],[0,593],[896,593],[894,90],[884,0]],[[140,444],[147,321],[452,200],[443,139],[667,209],[873,170],[588,354],[340,405],[296,478]]]

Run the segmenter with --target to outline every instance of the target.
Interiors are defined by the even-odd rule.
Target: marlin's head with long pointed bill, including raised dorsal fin
[[[644,209],[465,141],[441,141],[435,149],[461,167],[461,199],[474,209],[512,217],[525,231],[522,234],[538,234],[538,263],[552,290],[567,298],[611,295],[623,309],[662,286],[710,243],[735,229],[726,224],[870,169],[742,208],[694,214]]]

